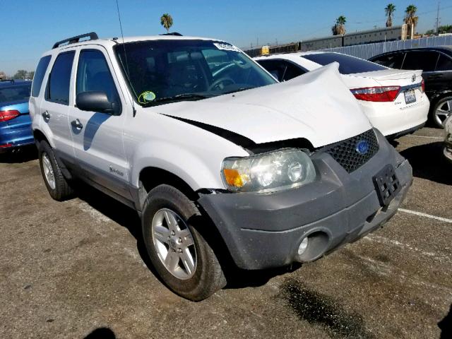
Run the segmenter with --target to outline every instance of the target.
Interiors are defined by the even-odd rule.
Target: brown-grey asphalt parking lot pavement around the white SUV
[[[133,210],[87,187],[53,201],[35,150],[0,155],[0,338],[452,338],[443,137],[394,143],[415,178],[385,227],[294,271],[242,272],[198,303],[156,278]]]

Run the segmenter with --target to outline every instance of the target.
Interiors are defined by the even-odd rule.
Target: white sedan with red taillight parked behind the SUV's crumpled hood
[[[338,62],[345,85],[357,98],[371,124],[387,138],[422,128],[429,114],[422,71],[389,69],[373,62],[334,52],[299,52],[257,57],[278,81]]]

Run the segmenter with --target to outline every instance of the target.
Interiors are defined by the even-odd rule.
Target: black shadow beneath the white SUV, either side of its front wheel
[[[136,246],[141,259],[155,277],[163,283],[148,256],[147,249],[143,242],[143,233],[141,232],[141,219],[136,210],[125,206],[123,203],[97,191],[97,189],[94,189],[83,182],[76,183],[76,195],[107,218],[129,230],[130,234],[136,239]],[[217,254],[218,260],[220,261],[226,276],[227,286],[225,288],[227,289],[262,286],[268,283],[268,280],[271,278],[277,275],[283,275],[300,267],[299,264],[295,263],[291,267],[285,268],[252,271],[241,270],[234,265],[232,258],[229,255],[229,251],[227,251],[224,242],[222,242],[220,234],[215,231],[206,232],[206,230],[216,230],[216,227],[210,224],[210,220],[196,220],[195,225],[196,224],[203,225],[202,227],[205,230],[198,229],[198,231],[203,234],[204,239],[206,239],[210,246],[215,249],[215,254]]]

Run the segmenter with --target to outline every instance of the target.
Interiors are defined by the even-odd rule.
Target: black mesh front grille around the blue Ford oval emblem
[[[358,146],[364,141],[367,142],[367,152],[359,153]],[[364,146],[363,146],[364,147]],[[358,136],[348,138],[340,143],[331,145],[326,153],[331,155],[334,160],[340,163],[344,169],[351,173],[364,165],[379,150],[379,142],[373,129],[369,129]]]

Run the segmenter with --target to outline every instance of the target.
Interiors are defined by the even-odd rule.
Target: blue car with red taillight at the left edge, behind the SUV
[[[0,82],[0,153],[34,143],[28,98],[31,81]]]

